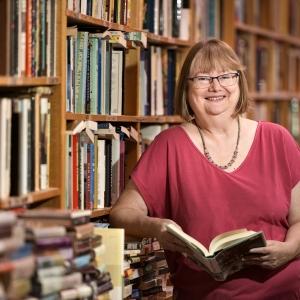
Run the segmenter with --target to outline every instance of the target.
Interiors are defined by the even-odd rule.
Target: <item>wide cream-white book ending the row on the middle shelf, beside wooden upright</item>
[[[122,77],[123,77],[123,51],[112,50],[111,66],[111,111],[114,116],[122,115]]]

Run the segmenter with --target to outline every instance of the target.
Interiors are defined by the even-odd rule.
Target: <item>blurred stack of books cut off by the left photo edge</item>
[[[0,212],[0,299],[23,299],[31,290],[34,257],[12,212]]]

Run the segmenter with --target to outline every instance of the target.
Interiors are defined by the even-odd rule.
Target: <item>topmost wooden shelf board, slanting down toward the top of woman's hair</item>
[[[115,29],[115,30],[126,31],[126,32],[143,31],[147,34],[148,42],[151,44],[176,45],[176,46],[184,46],[184,47],[191,47],[194,44],[193,42],[190,41],[180,40],[173,37],[165,37],[165,36],[153,34],[151,32],[146,32],[141,29],[97,19],[68,9],[66,9],[66,16],[68,20],[68,26],[79,25],[85,27],[97,27],[98,29],[100,26],[103,28],[102,30],[100,29],[100,31],[102,32],[108,29]]]

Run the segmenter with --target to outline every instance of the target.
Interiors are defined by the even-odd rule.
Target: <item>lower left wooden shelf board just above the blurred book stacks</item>
[[[60,190],[58,188],[48,188],[46,190],[28,193],[27,195],[9,197],[8,199],[1,200],[0,209],[10,209],[27,204],[32,204],[59,195]]]

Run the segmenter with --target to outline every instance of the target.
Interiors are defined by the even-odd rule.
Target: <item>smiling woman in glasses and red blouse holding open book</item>
[[[300,299],[300,151],[283,127],[242,117],[245,68],[224,42],[196,44],[175,93],[184,123],[161,132],[110,213],[126,234],[155,237],[166,250],[174,299]],[[226,281],[185,258],[165,229],[173,223],[208,248],[218,234],[262,230],[254,266]]]

